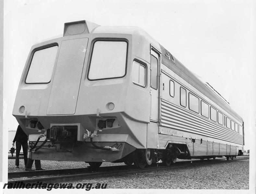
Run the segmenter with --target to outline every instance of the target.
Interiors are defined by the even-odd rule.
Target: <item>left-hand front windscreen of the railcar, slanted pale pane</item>
[[[34,52],[25,83],[49,83],[58,46],[44,48]]]

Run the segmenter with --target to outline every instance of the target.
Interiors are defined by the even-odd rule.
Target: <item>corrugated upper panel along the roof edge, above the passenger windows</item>
[[[199,80],[190,70],[188,70],[181,62],[179,62],[176,58],[175,62],[171,61],[165,56],[165,50],[163,46],[161,46],[161,61],[164,65],[170,68],[172,71],[177,73],[181,78],[187,81],[189,84],[194,86],[200,92],[202,92],[205,96],[211,99],[213,102],[223,107],[228,113],[230,113],[234,118],[238,121],[242,122],[242,118],[231,109],[229,105],[226,104],[217,94],[215,94],[211,89],[208,88],[201,80]]]

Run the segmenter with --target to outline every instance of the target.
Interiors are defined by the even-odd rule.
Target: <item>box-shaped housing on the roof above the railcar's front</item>
[[[89,34],[91,31],[98,27],[98,24],[94,24],[89,21],[81,20],[76,22],[67,22],[64,24],[63,36],[71,36],[77,34]]]

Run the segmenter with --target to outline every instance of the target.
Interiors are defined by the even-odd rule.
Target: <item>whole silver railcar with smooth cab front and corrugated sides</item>
[[[233,159],[244,145],[243,119],[140,27],[65,23],[32,46],[13,115],[30,158],[92,167]]]

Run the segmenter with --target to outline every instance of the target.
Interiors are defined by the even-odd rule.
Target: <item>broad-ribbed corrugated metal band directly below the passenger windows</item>
[[[203,119],[177,105],[161,99],[161,125],[193,134],[243,144],[242,135]]]

